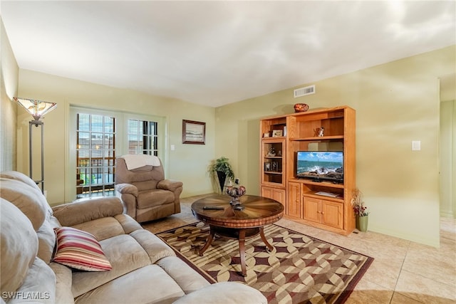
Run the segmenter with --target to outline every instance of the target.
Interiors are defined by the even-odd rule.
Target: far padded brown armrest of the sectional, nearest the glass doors
[[[78,199],[52,209],[53,215],[62,226],[74,226],[94,219],[123,214],[122,201],[115,196]]]

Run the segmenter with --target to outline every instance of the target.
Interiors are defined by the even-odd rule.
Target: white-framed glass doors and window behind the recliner
[[[164,117],[71,106],[66,200],[114,196],[124,154],[158,156],[166,170],[165,129]]]

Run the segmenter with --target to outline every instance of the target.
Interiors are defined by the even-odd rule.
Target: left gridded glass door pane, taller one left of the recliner
[[[115,117],[78,113],[76,194],[114,195]]]

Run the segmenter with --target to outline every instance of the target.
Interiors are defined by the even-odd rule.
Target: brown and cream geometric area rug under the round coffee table
[[[264,227],[271,252],[260,236],[245,241],[247,276],[240,276],[239,243],[217,236],[199,256],[209,236],[202,222],[157,234],[177,256],[211,283],[238,281],[256,288],[269,304],[344,303],[373,258],[276,224]]]

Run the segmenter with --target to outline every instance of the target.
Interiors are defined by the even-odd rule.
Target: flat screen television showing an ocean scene
[[[296,177],[343,183],[343,152],[298,151]]]

